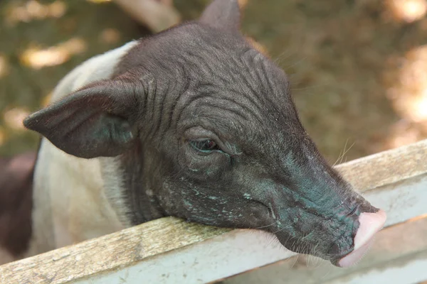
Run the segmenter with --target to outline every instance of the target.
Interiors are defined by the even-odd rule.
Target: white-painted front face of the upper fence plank
[[[367,192],[365,197],[368,200],[371,194],[374,194],[384,208],[394,207],[396,202],[405,204],[402,207],[394,207],[394,214],[387,220],[388,225],[401,222],[402,218],[408,219],[426,212],[427,174],[423,175],[423,178],[413,179],[401,182],[399,187],[381,187],[379,195],[376,195],[376,191]],[[399,192],[405,194],[401,195]],[[408,207],[406,200],[416,200],[416,203]],[[275,238],[265,235],[258,231],[235,230],[179,251],[135,263],[135,266],[124,268],[117,273],[102,275],[92,279],[90,283],[117,283],[122,279],[125,279],[126,283],[139,283],[140,279],[147,280],[147,283],[207,283],[294,255],[283,249]]]

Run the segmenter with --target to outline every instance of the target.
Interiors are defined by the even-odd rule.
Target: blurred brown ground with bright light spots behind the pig
[[[209,0],[0,1],[0,155],[93,55],[199,16]],[[344,162],[427,138],[426,0],[246,0],[243,33],[290,77],[302,123]],[[345,155],[343,155],[345,153]]]

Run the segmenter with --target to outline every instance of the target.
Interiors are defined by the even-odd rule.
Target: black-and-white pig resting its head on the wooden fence
[[[236,0],[84,62],[28,116],[41,133],[31,253],[160,217],[261,229],[347,267],[386,220],[322,158]]]

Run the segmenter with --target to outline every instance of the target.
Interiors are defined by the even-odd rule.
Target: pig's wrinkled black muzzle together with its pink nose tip
[[[283,246],[349,267],[367,252],[374,235],[386,222],[386,213],[372,206],[331,168],[311,143],[311,153],[285,160],[290,174],[268,185],[260,202],[270,209],[265,224]],[[300,151],[299,153],[303,153]],[[291,163],[293,162],[293,163]],[[282,164],[285,164],[283,161]]]

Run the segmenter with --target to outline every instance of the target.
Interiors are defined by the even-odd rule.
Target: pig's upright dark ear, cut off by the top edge
[[[238,30],[240,9],[237,0],[214,0],[201,15],[200,21],[209,26]]]

